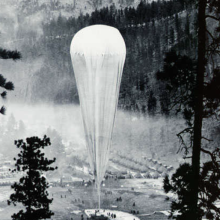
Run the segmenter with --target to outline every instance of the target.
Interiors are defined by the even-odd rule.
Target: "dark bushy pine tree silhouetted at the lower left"
[[[30,137],[15,141],[15,145],[20,150],[16,160],[15,169],[12,172],[24,172],[24,176],[19,182],[15,182],[11,187],[15,193],[11,194],[8,204],[22,203],[26,210],[20,210],[12,215],[14,220],[39,220],[50,218],[53,212],[49,205],[53,199],[48,198],[46,189],[49,184],[43,176],[43,172],[57,169],[50,165],[55,162],[44,157],[42,149],[49,146],[50,139],[44,136],[43,139]]]

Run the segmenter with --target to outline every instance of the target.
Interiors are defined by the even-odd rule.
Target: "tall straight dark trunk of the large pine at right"
[[[196,103],[194,118],[194,137],[193,137],[193,153],[192,153],[192,218],[199,220],[198,213],[198,192],[199,192],[199,172],[200,172],[200,151],[202,138],[202,118],[203,118],[203,85],[205,73],[205,50],[206,50],[206,20],[205,10],[206,1],[198,1],[198,66],[197,66],[197,85],[196,85]]]

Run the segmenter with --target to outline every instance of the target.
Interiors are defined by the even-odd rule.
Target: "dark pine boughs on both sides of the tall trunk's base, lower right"
[[[220,181],[219,149],[210,153],[212,160],[203,164],[199,176],[199,219],[205,216],[207,219],[218,220],[220,210],[216,207],[215,202],[220,198]],[[173,174],[172,178],[168,176],[164,179],[164,191],[172,192],[177,195],[177,199],[172,201],[171,216],[177,220],[191,219],[192,206],[192,183],[194,181],[192,166],[188,163],[180,165]],[[176,213],[178,211],[178,213]]]

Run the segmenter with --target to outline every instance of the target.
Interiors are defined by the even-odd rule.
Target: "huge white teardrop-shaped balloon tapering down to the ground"
[[[76,33],[70,53],[100,207],[126,47],[116,28],[93,25]]]

